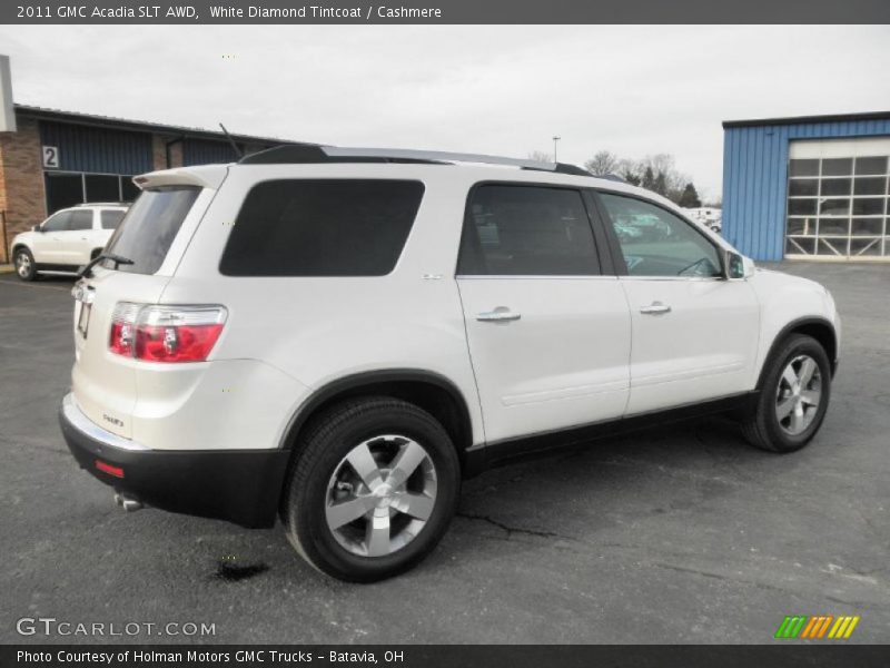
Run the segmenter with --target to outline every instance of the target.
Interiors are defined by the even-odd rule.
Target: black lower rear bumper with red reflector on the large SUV
[[[62,400],[59,423],[80,468],[121,494],[248,528],[275,524],[286,450],[150,450],[91,422],[71,394]],[[107,472],[109,466],[122,477]]]

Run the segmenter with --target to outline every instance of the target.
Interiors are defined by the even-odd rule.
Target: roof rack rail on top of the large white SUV
[[[581,167],[564,163],[540,163],[522,158],[505,158],[481,154],[459,154],[442,150],[414,150],[407,148],[347,148],[322,146],[317,144],[285,144],[259,153],[250,154],[239,160],[239,165],[270,164],[313,164],[313,163],[413,163],[425,165],[447,165],[451,163],[482,163],[504,165],[521,169],[555,171],[575,176],[591,176]]]

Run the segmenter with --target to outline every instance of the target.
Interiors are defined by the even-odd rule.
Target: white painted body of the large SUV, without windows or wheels
[[[393,273],[221,275],[222,249],[248,190],[286,178],[423,181],[423,202]],[[748,259],[736,279],[455,276],[467,193],[487,180],[633,194],[683,215],[625,184],[492,166],[233,165],[149,174],[137,179],[144,188],[194,184],[202,191],[156,274],[97,267],[85,282],[95,302],[90,336],[75,332],[77,404],[101,429],[142,448],[275,449],[300,406],[333,381],[418,370],[459,391],[472,441],[483,445],[751,391],[787,324],[819,317],[839,331],[824,288],[754,272]],[[111,312],[121,301],[220,304],[228,321],[206,362],[140,362],[108,351]],[[653,302],[672,310],[642,315]],[[497,308],[521,318],[476,320]]]

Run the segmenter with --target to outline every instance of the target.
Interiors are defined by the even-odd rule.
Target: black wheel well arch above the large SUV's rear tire
[[[291,424],[284,446],[293,449],[314,416],[344,400],[357,396],[392,396],[423,409],[448,432],[463,464],[464,453],[473,444],[469,411],[457,389],[444,381],[387,379],[335,384],[335,387],[323,391],[315,400],[305,404],[305,409]]]

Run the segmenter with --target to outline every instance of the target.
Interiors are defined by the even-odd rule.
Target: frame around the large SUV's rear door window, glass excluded
[[[467,228],[473,223],[473,200],[476,190],[485,186],[507,186],[507,187],[525,187],[525,188],[547,188],[551,190],[572,190],[581,196],[581,204],[587,216],[587,225],[593,234],[593,249],[596,254],[596,259],[600,263],[599,272],[592,274],[462,274],[461,255],[464,252],[464,235]],[[609,239],[602,229],[599,212],[595,208],[595,203],[591,199],[585,187],[571,186],[566,184],[548,184],[546,181],[525,181],[525,180],[511,180],[511,179],[486,179],[474,183],[466,195],[466,203],[464,205],[464,220],[461,225],[461,238],[457,246],[457,258],[455,261],[454,277],[455,278],[481,278],[481,279],[543,279],[553,281],[561,278],[570,279],[591,279],[591,278],[614,278],[615,265],[613,263],[612,252],[609,248]]]

